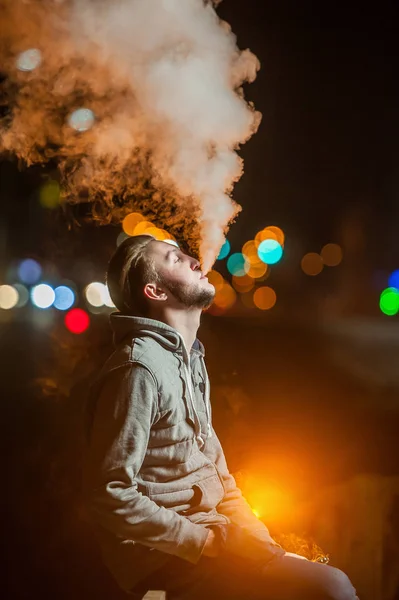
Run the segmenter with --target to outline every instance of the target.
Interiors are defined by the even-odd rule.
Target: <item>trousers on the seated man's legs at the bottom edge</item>
[[[166,590],[167,600],[356,600],[348,577],[334,567],[286,555],[260,567],[243,557],[202,557],[196,565],[171,557],[135,588]]]

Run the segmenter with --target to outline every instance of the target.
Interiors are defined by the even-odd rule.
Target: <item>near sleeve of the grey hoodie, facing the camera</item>
[[[91,519],[130,539],[196,563],[208,530],[137,489],[158,406],[152,373],[133,363],[108,373],[96,398],[84,474]]]

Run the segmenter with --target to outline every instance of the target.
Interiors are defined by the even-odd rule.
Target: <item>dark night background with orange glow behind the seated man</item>
[[[275,516],[272,530],[312,535],[361,598],[398,600],[399,326],[379,309],[399,268],[398,5],[225,0],[218,13],[261,62],[246,95],[263,120],[241,151],[229,240],[240,251],[275,224],[286,253],[271,311],[204,316],[216,428],[232,471],[313,507]],[[41,208],[48,173],[1,163],[0,283],[32,256],[47,281],[82,290],[103,280],[120,228]],[[343,262],[307,277],[302,256],[328,242]],[[112,349],[107,313],[73,336],[59,313],[39,312],[0,310],[5,597],[122,598],[77,493],[80,406]],[[334,534],[322,523],[331,503]]]

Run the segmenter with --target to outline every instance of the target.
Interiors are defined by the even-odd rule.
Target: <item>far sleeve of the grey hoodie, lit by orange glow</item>
[[[251,532],[259,540],[279,546],[271,537],[266,525],[254,515],[233,475],[229,473],[222,446],[213,428],[212,437],[205,446],[205,453],[216,465],[225,488],[224,498],[217,506],[218,512],[228,517],[231,523]]]

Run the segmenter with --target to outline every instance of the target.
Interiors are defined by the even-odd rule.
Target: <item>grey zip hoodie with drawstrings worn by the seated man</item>
[[[196,563],[207,527],[235,523],[274,544],[229,473],[212,427],[202,344],[111,315],[115,352],[87,405],[86,507],[104,560],[130,590],[168,555]]]

